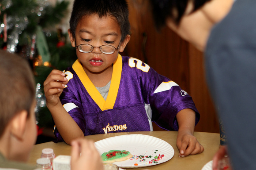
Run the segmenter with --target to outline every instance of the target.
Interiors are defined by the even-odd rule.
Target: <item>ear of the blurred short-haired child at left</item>
[[[17,140],[23,140],[23,134],[26,129],[26,121],[27,121],[28,112],[26,110],[22,110],[17,113],[14,118],[11,119],[11,134],[16,137]]]

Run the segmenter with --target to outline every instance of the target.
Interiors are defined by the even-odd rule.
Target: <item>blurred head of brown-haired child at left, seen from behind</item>
[[[0,50],[0,152],[26,161],[37,137],[35,82],[28,62]]]

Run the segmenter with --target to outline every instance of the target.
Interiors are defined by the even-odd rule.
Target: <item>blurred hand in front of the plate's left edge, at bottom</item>
[[[93,141],[80,138],[72,141],[71,145],[72,170],[103,170],[102,159]]]

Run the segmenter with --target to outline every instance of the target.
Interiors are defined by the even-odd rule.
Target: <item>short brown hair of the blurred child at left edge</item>
[[[0,137],[10,120],[20,111],[28,116],[35,100],[34,76],[28,62],[0,50]]]

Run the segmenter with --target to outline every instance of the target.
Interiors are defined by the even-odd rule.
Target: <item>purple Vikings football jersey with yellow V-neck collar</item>
[[[186,108],[196,112],[196,124],[200,119],[188,93],[136,58],[118,55],[106,100],[79,60],[64,72],[69,81],[60,100],[84,135],[149,131],[152,122],[178,130],[176,115]],[[56,128],[54,134],[63,141]]]

